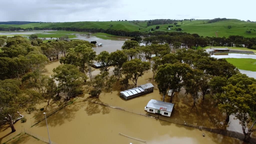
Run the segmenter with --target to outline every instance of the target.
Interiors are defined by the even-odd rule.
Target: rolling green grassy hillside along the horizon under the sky
[[[147,22],[129,22],[129,21],[116,21],[116,22],[65,22],[65,23],[30,23],[24,25],[0,25],[0,27],[20,27],[20,28],[34,28],[34,27],[76,27],[76,28],[102,28],[102,29],[115,29],[124,30],[128,32],[140,31],[149,32],[151,28],[156,31],[173,32],[175,28],[182,28],[181,32],[197,33],[200,36],[214,36],[228,37],[230,35],[241,35],[244,37],[256,37],[256,23],[243,22],[238,19],[230,19],[219,21],[215,23],[207,23],[208,20],[184,20],[182,23],[178,22],[180,27],[175,27],[173,24],[158,25],[159,29],[155,29],[157,25],[147,26]],[[172,30],[166,29],[169,25],[173,25]],[[229,29],[228,26],[231,26]],[[251,33],[246,33],[250,30]],[[254,31],[255,30],[255,31]]]

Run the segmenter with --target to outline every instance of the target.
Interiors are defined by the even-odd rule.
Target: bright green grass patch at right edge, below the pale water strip
[[[238,69],[256,71],[256,59],[252,58],[226,58],[226,60]]]

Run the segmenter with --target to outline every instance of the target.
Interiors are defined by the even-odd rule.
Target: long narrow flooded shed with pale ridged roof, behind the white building
[[[153,90],[154,90],[154,86],[151,83],[147,83],[132,89],[121,91],[120,97],[123,97],[124,99],[130,99],[139,95],[143,95],[145,93],[152,92]]]

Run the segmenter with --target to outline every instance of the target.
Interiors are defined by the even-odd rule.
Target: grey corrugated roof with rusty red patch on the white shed
[[[172,112],[173,103],[151,99],[146,107]]]

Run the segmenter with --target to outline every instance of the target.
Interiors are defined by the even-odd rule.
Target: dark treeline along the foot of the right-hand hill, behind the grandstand
[[[143,43],[146,45],[163,44],[167,43],[171,46],[180,44],[192,48],[197,46],[226,46],[226,47],[243,47],[243,45],[249,49],[256,49],[256,38],[247,38],[243,36],[229,36],[226,37],[203,37],[198,34],[189,34],[182,32],[160,32],[146,33]]]

